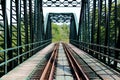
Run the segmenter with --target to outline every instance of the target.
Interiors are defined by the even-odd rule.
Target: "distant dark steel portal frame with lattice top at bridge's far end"
[[[71,40],[77,39],[78,33],[77,33],[77,25],[75,20],[75,15],[73,13],[49,13],[47,16],[47,22],[46,22],[46,39],[52,38],[51,33],[51,23],[54,22],[70,22],[70,35],[69,39]]]

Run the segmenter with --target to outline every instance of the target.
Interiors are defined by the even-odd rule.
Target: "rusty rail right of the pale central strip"
[[[77,80],[89,80],[88,76],[84,73],[79,63],[76,61],[76,59],[72,55],[72,52],[69,49],[68,45],[66,45],[65,43],[62,43],[62,44],[63,44],[64,51],[67,55],[67,58],[69,60],[69,64],[75,74],[75,78]]]

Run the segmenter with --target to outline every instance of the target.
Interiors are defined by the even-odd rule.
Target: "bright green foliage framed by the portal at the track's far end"
[[[57,25],[52,23],[52,41],[53,42],[59,42],[69,41],[69,27],[66,24],[63,25]]]

